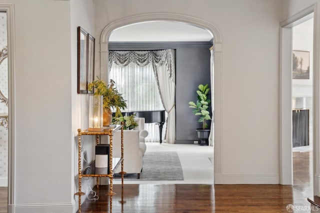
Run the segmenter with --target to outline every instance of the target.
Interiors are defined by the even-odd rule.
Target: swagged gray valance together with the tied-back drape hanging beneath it
[[[165,140],[169,143],[175,142],[175,51],[174,49],[164,50],[143,50],[143,51],[109,51],[109,70],[114,64],[126,67],[130,63],[140,67],[152,65],[156,85],[160,91],[160,98],[166,112],[168,113],[165,129]],[[110,78],[112,78],[110,76]],[[113,80],[114,77],[112,78]],[[125,84],[130,84],[128,79],[119,78]],[[116,84],[118,87],[118,83]],[[142,96],[143,97],[143,96]],[[173,100],[173,102],[172,102]],[[145,109],[155,110],[155,109]],[[158,137],[157,137],[158,138]]]

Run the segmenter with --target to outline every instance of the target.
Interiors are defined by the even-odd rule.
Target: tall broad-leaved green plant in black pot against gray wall
[[[195,129],[197,131],[198,138],[200,139],[199,145],[208,145],[208,138],[210,129],[207,128],[206,120],[210,120],[210,112],[208,111],[210,99],[208,99],[208,92],[210,88],[208,88],[208,84],[199,84],[197,93],[196,103],[193,101],[189,102],[189,107],[194,108],[192,113],[200,116],[198,122],[202,122],[202,128]]]

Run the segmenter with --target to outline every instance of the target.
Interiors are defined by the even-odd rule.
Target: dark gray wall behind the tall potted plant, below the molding
[[[210,51],[208,47],[180,47],[176,51],[176,142],[197,140],[198,116],[192,114],[189,101],[196,101],[197,86],[210,86]],[[211,107],[210,107],[211,108]],[[210,122],[207,122],[210,124]]]

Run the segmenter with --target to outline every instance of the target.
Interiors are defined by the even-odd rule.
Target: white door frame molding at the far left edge
[[[0,3],[0,11],[6,12],[8,43],[8,212],[14,212],[15,183],[15,127],[14,127],[14,6]]]

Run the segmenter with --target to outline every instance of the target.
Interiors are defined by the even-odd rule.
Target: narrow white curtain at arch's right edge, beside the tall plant
[[[210,126],[210,134],[209,134],[209,145],[213,146],[214,142],[214,52],[213,47],[210,48],[210,89],[211,89],[211,126]]]

